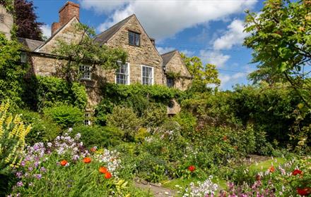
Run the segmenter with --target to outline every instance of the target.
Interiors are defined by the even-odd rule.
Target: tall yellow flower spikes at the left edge
[[[18,167],[19,153],[25,146],[25,136],[30,132],[30,125],[25,127],[20,115],[8,113],[9,104],[0,105],[0,170],[10,165]]]

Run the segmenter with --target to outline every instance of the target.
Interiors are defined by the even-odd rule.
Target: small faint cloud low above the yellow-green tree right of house
[[[224,55],[218,51],[200,51],[200,58],[203,63],[211,63],[216,65],[216,68],[223,68],[225,63],[230,59],[230,56]]]

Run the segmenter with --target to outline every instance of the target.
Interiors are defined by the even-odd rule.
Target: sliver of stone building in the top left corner
[[[6,35],[7,39],[11,39],[11,29],[13,27],[13,17],[6,11],[4,6],[0,5],[0,32]]]

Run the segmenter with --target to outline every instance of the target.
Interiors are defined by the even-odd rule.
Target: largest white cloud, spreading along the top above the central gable
[[[255,0],[228,1],[179,1],[179,0],[80,0],[81,6],[97,13],[110,14],[98,30],[106,30],[113,24],[135,13],[146,32],[155,39],[174,36],[188,27],[212,20],[221,20],[233,13],[240,13],[257,3]]]

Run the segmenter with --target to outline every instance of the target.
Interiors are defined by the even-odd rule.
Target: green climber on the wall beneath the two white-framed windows
[[[102,101],[95,109],[95,122],[105,125],[107,114],[112,113],[115,106],[127,106],[142,117],[150,111],[150,106],[167,105],[172,98],[182,98],[183,91],[170,89],[160,85],[145,86],[142,84],[119,85],[105,84],[102,87]],[[158,113],[162,110],[158,109]]]

